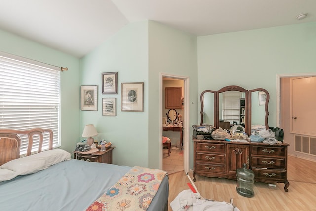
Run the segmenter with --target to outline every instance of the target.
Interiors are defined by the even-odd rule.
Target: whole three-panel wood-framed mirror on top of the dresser
[[[269,93],[263,88],[246,90],[240,86],[226,86],[218,91],[205,90],[200,101],[200,125],[218,128],[223,122],[229,122],[231,126],[242,125],[249,135],[258,127],[269,128]],[[225,110],[227,108],[229,110]]]

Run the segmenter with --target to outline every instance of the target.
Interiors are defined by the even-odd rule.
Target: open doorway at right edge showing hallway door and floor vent
[[[288,154],[316,161],[315,73],[278,75],[277,123],[284,129]],[[299,125],[297,125],[299,124]]]

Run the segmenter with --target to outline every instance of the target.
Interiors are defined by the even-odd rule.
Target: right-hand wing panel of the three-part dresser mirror
[[[256,130],[269,129],[269,98],[269,92],[263,88],[249,90],[248,134]]]

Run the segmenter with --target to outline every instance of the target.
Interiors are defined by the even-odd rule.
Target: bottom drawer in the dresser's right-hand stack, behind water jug
[[[252,171],[255,174],[255,179],[263,180],[286,180],[287,179],[287,170],[280,169],[261,169],[261,168],[252,168]]]

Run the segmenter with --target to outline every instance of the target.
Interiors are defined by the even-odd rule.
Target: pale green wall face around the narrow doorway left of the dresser
[[[189,77],[190,116],[184,123],[192,140],[191,125],[197,122],[197,38],[182,31],[149,21],[149,166],[159,168],[160,114],[159,95],[162,92],[160,73]],[[161,105],[162,106],[162,105]],[[189,131],[188,131],[189,130]],[[184,140],[185,142],[185,140]],[[193,143],[190,143],[190,157],[193,158]],[[190,167],[193,168],[193,159]]]

